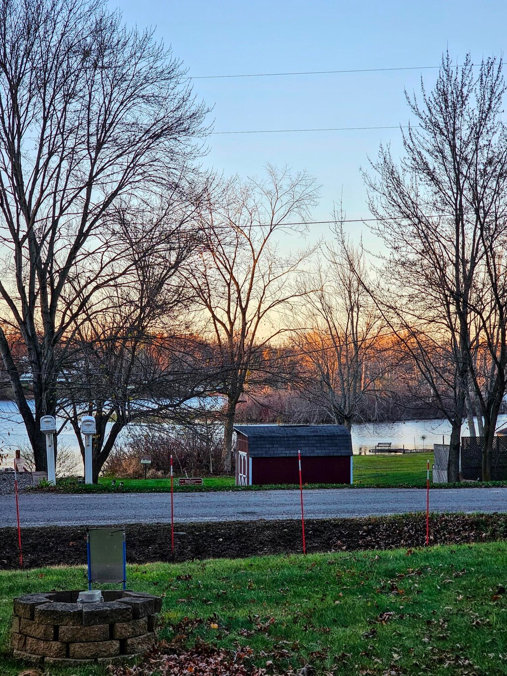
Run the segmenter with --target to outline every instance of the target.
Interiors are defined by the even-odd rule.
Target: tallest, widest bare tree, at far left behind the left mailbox
[[[101,0],[4,0],[0,41],[0,355],[43,470],[39,421],[56,408],[57,345],[131,264],[112,214],[174,189],[206,110],[170,51]]]

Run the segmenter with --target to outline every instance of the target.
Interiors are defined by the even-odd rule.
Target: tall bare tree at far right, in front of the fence
[[[488,334],[493,306],[495,322],[500,322],[493,324],[502,327],[501,335],[493,333],[503,341],[505,331],[500,268],[493,270],[506,228],[501,70],[501,61],[487,59],[475,75],[469,56],[453,68],[444,55],[433,90],[422,84],[420,102],[407,95],[416,124],[402,132],[401,165],[381,147],[373,164],[378,180],[367,177],[370,208],[379,218],[377,233],[389,251],[381,306],[406,345],[415,346],[412,354],[452,425],[450,481],[458,479],[470,379],[485,419],[484,479],[489,478],[487,458],[505,391],[505,350],[493,347],[493,335],[486,339],[488,362],[494,363],[498,381],[487,397],[490,404],[473,362],[477,341]],[[479,335],[471,331],[473,324]],[[447,356],[443,360],[442,354]],[[447,383],[444,391],[440,379]]]

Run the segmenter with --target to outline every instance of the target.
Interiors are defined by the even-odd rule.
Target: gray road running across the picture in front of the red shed
[[[403,514],[426,509],[421,489],[327,489],[304,494],[307,518]],[[507,512],[507,488],[432,489],[433,512]],[[175,493],[177,523],[299,518],[299,491]],[[167,523],[169,493],[20,496],[24,527]],[[0,496],[0,526],[16,525],[14,496]]]

